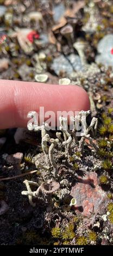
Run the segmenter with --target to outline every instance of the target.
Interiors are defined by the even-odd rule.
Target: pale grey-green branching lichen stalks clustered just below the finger
[[[77,162],[74,161],[74,153],[76,156],[81,156],[81,153],[83,153],[84,150],[84,145],[88,144],[90,147],[94,148],[96,151],[98,150],[97,145],[93,142],[93,139],[90,135],[96,135],[97,131],[97,118],[92,118],[90,125],[88,126],[86,123],[86,117],[87,115],[90,114],[90,111],[80,111],[76,117],[71,117],[71,120],[73,121],[73,128],[72,131],[68,130],[67,125],[67,118],[60,117],[60,131],[61,132],[56,132],[56,138],[51,138],[49,136],[49,133],[47,133],[46,127],[48,127],[48,124],[42,124],[41,126],[34,124],[34,123],[28,123],[28,129],[29,130],[35,130],[35,131],[40,131],[41,130],[41,137],[42,137],[42,150],[43,154],[45,155],[45,169],[46,170],[53,170],[53,179],[57,178],[58,176],[58,164],[55,162],[54,159],[54,149],[57,148],[62,148],[62,154],[64,154],[65,159],[67,159],[68,162],[71,163],[72,168],[77,171],[79,169],[79,165]],[[28,117],[31,117],[35,115],[35,112],[30,112],[28,114]],[[81,132],[79,132],[79,136],[77,136],[78,131],[77,131],[77,121],[79,120],[81,124]],[[88,142],[87,142],[88,141]],[[49,148],[47,147],[47,143],[49,143]],[[79,151],[76,153],[74,152],[74,148],[78,144],[79,146]],[[25,162],[32,162],[32,156],[26,155],[24,156],[24,161]],[[37,163],[37,167],[43,169],[43,166],[41,163]],[[22,194],[28,196],[29,198],[29,203],[32,206],[35,206],[33,203],[32,198],[37,198],[39,196],[40,190],[42,191],[42,185],[37,188],[36,191],[32,191],[30,188],[30,185],[38,186],[38,184],[34,181],[28,181],[25,180],[24,184],[26,184],[27,191],[22,191]],[[55,184],[56,186],[56,184]],[[59,188],[59,187],[58,187]],[[55,190],[58,190],[55,189]],[[54,190],[54,191],[55,191]],[[54,192],[53,191],[53,192]],[[43,192],[43,191],[42,191]]]

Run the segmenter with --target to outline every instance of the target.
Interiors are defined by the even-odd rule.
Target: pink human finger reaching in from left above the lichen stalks
[[[87,111],[89,96],[79,86],[0,80],[0,128],[27,127],[27,114],[52,111]]]

